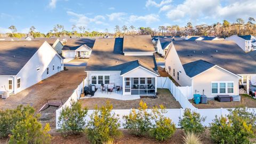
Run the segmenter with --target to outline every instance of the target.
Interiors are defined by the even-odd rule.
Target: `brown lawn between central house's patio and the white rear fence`
[[[80,99],[79,102],[82,103],[83,107],[87,107],[89,109],[94,109],[95,106],[101,107],[106,104],[107,101],[113,105],[114,109],[131,109],[138,108],[139,102],[142,100],[147,103],[149,108],[153,106],[164,105],[167,109],[171,108],[181,108],[180,103],[176,101],[173,95],[167,89],[157,89],[158,98],[141,98],[138,100],[116,100],[116,99],[108,99],[108,98],[87,98]]]

